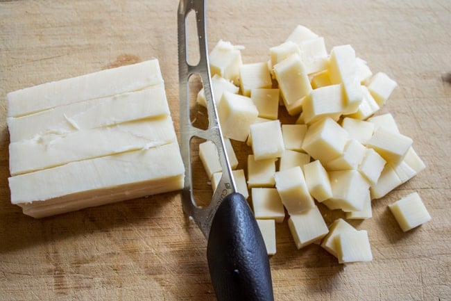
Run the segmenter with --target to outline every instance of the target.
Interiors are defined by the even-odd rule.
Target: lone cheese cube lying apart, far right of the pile
[[[431,220],[423,200],[418,193],[411,193],[389,205],[402,231],[409,231]]]

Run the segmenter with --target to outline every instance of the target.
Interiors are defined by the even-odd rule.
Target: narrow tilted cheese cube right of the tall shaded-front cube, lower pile
[[[309,193],[318,202],[323,202],[332,197],[329,174],[319,160],[304,165],[305,183]]]

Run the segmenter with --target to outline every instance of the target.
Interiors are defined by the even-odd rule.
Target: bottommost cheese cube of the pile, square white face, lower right
[[[343,232],[335,239],[339,263],[373,260],[366,230]]]

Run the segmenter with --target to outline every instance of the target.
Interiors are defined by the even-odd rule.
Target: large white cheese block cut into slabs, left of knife
[[[181,189],[158,60],[8,94],[11,202],[35,218]]]

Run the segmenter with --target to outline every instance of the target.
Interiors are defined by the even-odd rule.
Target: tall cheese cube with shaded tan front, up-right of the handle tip
[[[299,166],[276,172],[274,177],[275,188],[289,214],[297,214],[315,206]]]

